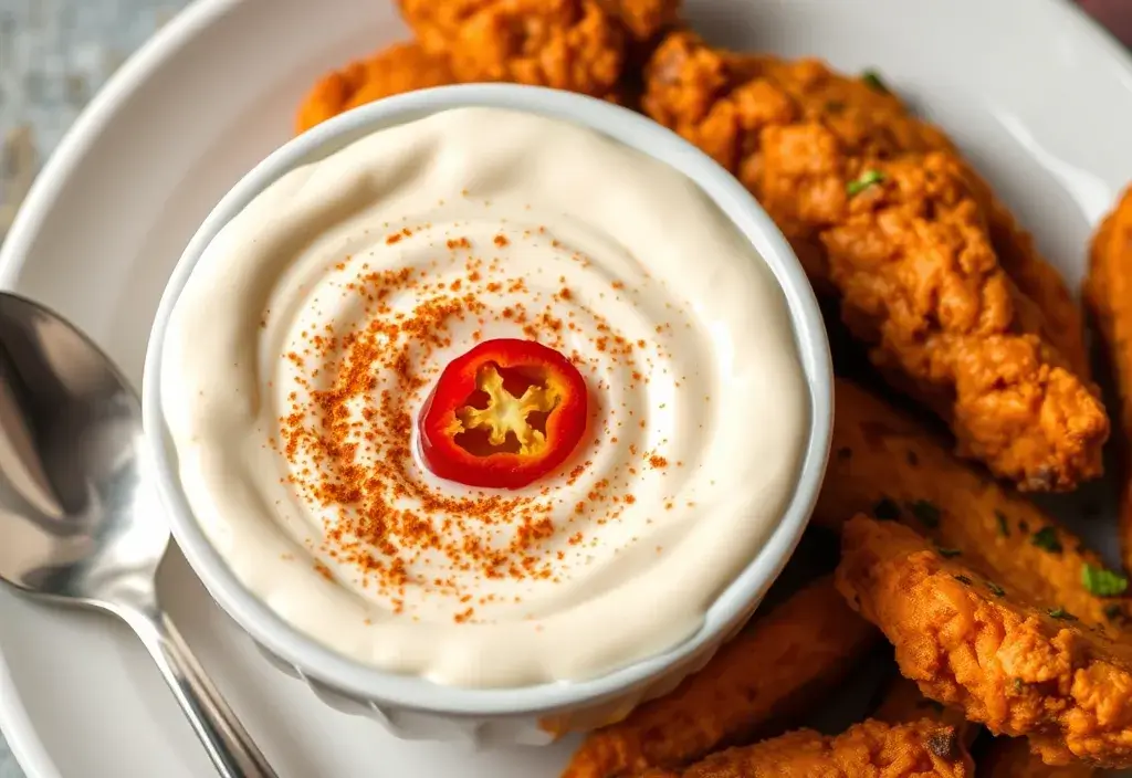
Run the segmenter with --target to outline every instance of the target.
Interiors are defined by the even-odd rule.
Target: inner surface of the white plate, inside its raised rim
[[[1079,279],[1090,225],[1132,179],[1132,62],[1067,2],[688,5],[720,42],[881,68]],[[119,71],[51,158],[0,252],[0,283],[72,317],[138,380],[158,293],[197,223],[289,136],[312,78],[402,34],[378,0],[199,0]],[[161,584],[283,776],[539,778],[568,753],[394,741],[267,666],[179,554]],[[0,726],[32,778],[211,775],[142,648],[110,620],[0,591]]]

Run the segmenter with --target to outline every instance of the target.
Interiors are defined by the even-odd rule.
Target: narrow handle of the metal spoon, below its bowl
[[[181,710],[224,778],[276,778],[264,754],[189,650],[164,611],[146,619],[139,637],[157,663]]]

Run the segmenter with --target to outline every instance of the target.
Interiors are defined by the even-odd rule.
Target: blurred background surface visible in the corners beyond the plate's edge
[[[86,101],[188,2],[0,0],[0,240]],[[1132,43],[1132,0],[1081,2]],[[20,776],[0,737],[0,778]]]

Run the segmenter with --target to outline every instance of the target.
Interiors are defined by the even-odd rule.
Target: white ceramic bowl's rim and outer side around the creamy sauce
[[[769,541],[707,610],[703,626],[669,650],[590,681],[517,689],[441,686],[348,659],[291,628],[249,593],[213,548],[181,491],[175,453],[161,409],[162,346],[170,312],[198,258],[217,232],[268,184],[385,127],[453,107],[505,107],[568,120],[667,163],[695,181],[766,260],[786,295],[809,392],[811,426],[798,482]],[[547,743],[566,731],[625,716],[671,690],[747,621],[806,527],[821,485],[832,422],[832,371],[825,329],[801,266],[755,199],[710,157],[626,109],[565,92],[513,85],[468,85],[415,92],[359,107],[291,140],[221,200],[186,248],[157,310],[143,386],[146,435],[157,489],[173,535],[217,603],[285,672],[305,678],[335,708],[372,716],[395,734],[478,743]]]

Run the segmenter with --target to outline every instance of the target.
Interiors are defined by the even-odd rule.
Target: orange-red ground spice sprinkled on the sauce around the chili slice
[[[423,240],[422,234],[406,227],[386,235],[384,243],[400,249],[411,240]],[[514,248],[531,239],[530,231],[525,236],[500,232],[484,249]],[[477,605],[494,599],[480,595],[470,602],[477,594],[474,581],[557,580],[567,568],[549,541],[560,533],[568,545],[582,545],[585,524],[580,528],[575,521],[616,520],[635,500],[626,489],[631,475],[624,473],[619,474],[624,482],[598,478],[573,510],[558,504],[550,487],[535,495],[452,496],[421,478],[411,450],[412,413],[444,366],[435,355],[453,346],[454,325],[463,322],[478,334],[482,327],[506,322],[522,336],[564,353],[565,334],[573,331],[575,343],[577,335],[576,326],[560,310],[555,312],[556,305],[573,299],[567,286],[532,293],[523,278],[507,276],[498,257],[478,256],[469,237],[452,235],[439,244],[436,251],[441,256],[424,269],[372,270],[361,265],[359,273],[357,263],[336,266],[344,277],[342,294],[360,303],[363,323],[340,329],[328,322],[302,332],[303,343],[292,344],[282,355],[294,366],[297,388],[271,444],[289,463],[284,482],[314,513],[326,517],[319,552],[358,570],[361,586],[385,597],[394,613],[411,607],[406,590],[413,588],[429,597],[451,598],[453,620],[464,623],[475,621]],[[456,267],[460,277],[432,273],[438,266]],[[509,295],[508,305],[497,310],[492,297],[503,291]],[[406,299],[413,301],[409,310]],[[601,361],[576,349],[567,356],[578,366],[589,364],[594,373],[594,365],[608,365],[610,360],[636,364],[645,344],[620,337],[594,317],[591,345],[597,349],[600,338]],[[590,329],[588,325],[585,330]],[[603,388],[599,378],[591,380],[594,388]],[[595,430],[591,446],[621,426],[616,410],[599,408],[599,416],[591,420]],[[653,460],[654,467],[663,466],[658,464],[662,457]],[[591,464],[575,466],[565,486],[556,489],[573,486]],[[438,570],[441,574],[436,574]],[[331,574],[325,565],[319,573]]]

